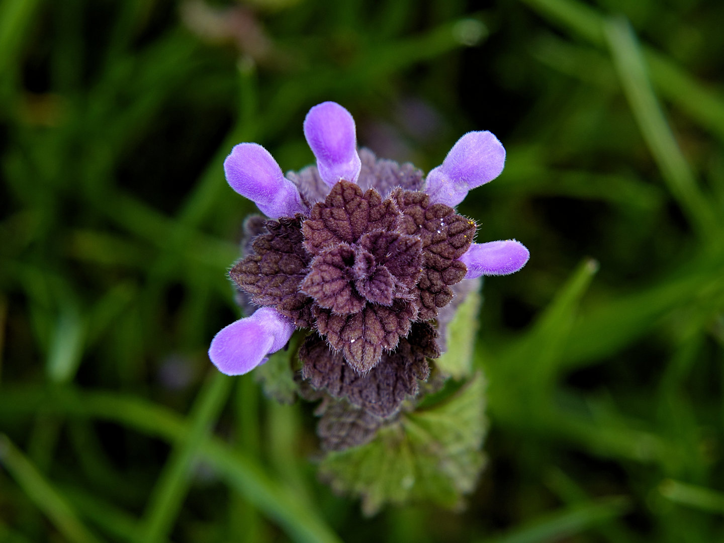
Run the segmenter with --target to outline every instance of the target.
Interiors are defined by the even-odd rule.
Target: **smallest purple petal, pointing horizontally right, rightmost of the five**
[[[468,266],[466,279],[481,275],[508,275],[518,271],[530,258],[525,245],[515,240],[473,243],[460,261]]]

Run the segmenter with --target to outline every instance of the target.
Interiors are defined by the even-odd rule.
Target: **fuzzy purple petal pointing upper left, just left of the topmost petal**
[[[235,146],[224,161],[224,172],[232,189],[272,219],[307,213],[297,188],[285,179],[271,153],[257,143]]]

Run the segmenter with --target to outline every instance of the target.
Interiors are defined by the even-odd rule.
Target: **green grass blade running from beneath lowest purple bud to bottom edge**
[[[199,392],[190,415],[188,434],[174,447],[151,494],[143,530],[138,538],[140,542],[163,541],[172,529],[188,492],[189,471],[229,397],[232,382],[229,377],[215,371]]]

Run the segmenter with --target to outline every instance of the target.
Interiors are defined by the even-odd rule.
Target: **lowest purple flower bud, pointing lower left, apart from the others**
[[[294,324],[274,308],[258,308],[252,316],[232,322],[211,340],[209,358],[227,375],[241,375],[266,362],[294,333]]]

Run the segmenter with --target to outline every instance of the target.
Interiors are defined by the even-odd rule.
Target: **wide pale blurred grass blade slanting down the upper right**
[[[628,21],[612,18],[605,36],[633,117],[673,197],[700,234],[712,235],[716,220],[681,153],[649,81],[636,35]]]

